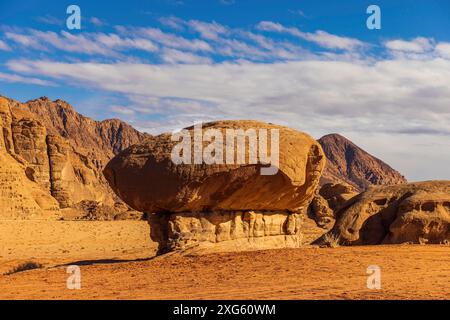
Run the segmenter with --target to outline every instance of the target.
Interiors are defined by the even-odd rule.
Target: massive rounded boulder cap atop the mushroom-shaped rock
[[[214,122],[203,130],[210,128],[279,129],[277,174],[261,175],[260,164],[175,164],[171,152],[176,143],[171,141],[170,134],[125,150],[108,163],[104,174],[122,200],[138,211],[149,213],[295,212],[307,208],[325,165],[320,146],[310,136],[256,121]]]

